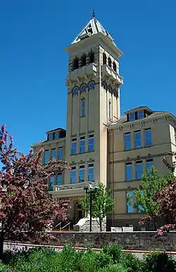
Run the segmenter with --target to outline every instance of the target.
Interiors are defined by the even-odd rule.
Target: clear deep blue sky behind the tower
[[[65,128],[68,56],[64,48],[92,18],[110,32],[120,59],[121,113],[139,105],[176,114],[176,1],[7,0],[0,8],[0,124],[15,145]]]

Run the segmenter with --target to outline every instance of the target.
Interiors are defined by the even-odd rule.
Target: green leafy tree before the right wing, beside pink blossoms
[[[156,231],[157,211],[160,205],[155,198],[156,193],[163,189],[167,182],[167,176],[159,175],[158,171],[151,167],[147,174],[142,175],[142,186],[134,190],[134,199],[128,197],[130,205],[137,209],[140,213],[146,214],[153,221],[154,229]]]

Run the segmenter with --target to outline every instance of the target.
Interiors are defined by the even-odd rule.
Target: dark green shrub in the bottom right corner
[[[176,262],[165,252],[153,252],[145,256],[146,271],[175,272]]]

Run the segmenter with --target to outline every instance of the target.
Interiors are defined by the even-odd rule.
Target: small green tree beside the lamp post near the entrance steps
[[[79,199],[84,212],[90,210],[90,194]],[[111,196],[111,190],[106,188],[103,183],[99,183],[98,188],[92,190],[92,217],[96,218],[102,231],[102,221],[107,214],[112,212],[115,201]]]

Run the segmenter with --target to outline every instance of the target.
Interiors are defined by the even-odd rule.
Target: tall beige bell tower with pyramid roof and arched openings
[[[72,167],[76,182],[80,181],[80,167],[84,167],[84,181],[94,179],[106,184],[107,126],[120,118],[119,57],[122,52],[94,13],[66,51],[65,160]],[[70,183],[69,174],[65,176],[65,183]]]

